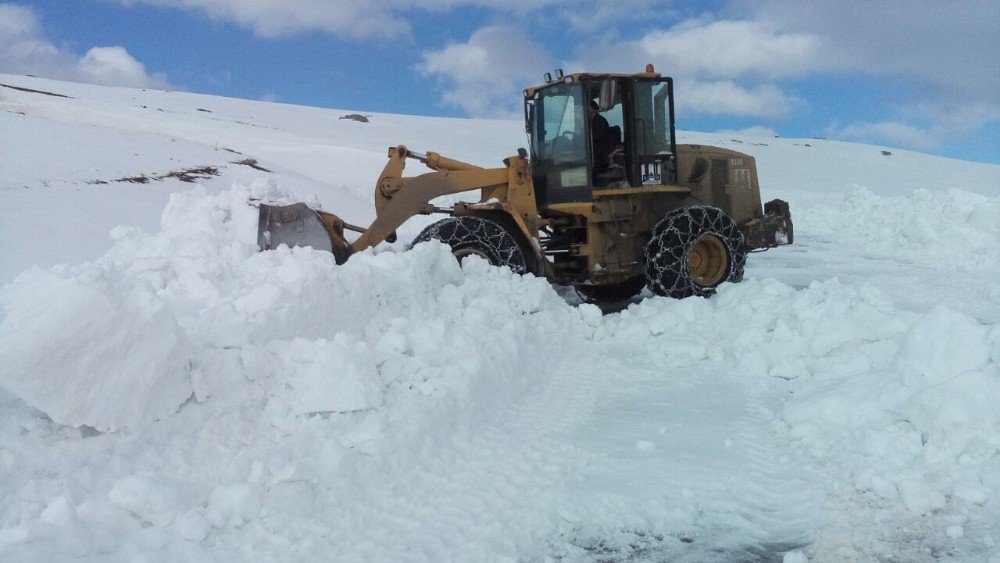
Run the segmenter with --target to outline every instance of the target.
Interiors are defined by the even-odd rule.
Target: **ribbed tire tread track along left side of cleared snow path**
[[[562,438],[599,391],[597,378],[579,377],[585,364],[567,357],[513,405],[471,413],[467,432],[414,466],[374,461],[353,500],[332,510],[325,541],[350,546],[338,558],[380,561],[491,560],[544,546],[538,531],[565,524],[562,483],[594,457]]]

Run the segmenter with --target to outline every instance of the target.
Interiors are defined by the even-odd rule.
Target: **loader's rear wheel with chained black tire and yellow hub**
[[[646,278],[657,295],[708,297],[725,281],[739,282],[746,241],[717,207],[689,205],[657,223],[646,245]]]

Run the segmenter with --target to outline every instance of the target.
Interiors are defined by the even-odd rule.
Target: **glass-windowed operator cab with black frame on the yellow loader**
[[[673,80],[651,66],[571,74],[524,96],[539,205],[593,201],[594,189],[674,183]]]

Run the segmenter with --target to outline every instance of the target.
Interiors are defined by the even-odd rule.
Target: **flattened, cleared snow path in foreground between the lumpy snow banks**
[[[818,499],[745,380],[603,348],[566,353],[488,404],[441,405],[447,440],[369,459],[353,489],[325,495],[338,502],[319,523],[321,551],[736,561],[808,543]]]

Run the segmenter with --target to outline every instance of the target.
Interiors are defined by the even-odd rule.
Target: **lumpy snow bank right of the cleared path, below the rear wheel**
[[[749,279],[709,300],[648,299],[605,317],[594,338],[664,369],[715,364],[784,395],[775,430],[846,479],[853,492],[828,493],[848,502],[872,495],[864,502],[897,517],[940,513],[938,532],[956,513],[1000,514],[1000,325],[946,307],[907,313],[837,280],[795,290]],[[878,553],[859,549],[838,556]]]

